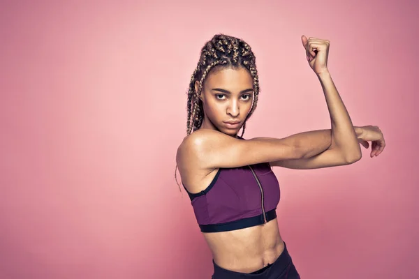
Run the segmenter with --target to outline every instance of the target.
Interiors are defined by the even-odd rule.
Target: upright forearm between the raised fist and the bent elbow
[[[351,117],[339,96],[339,92],[333,83],[330,73],[325,72],[318,75],[331,121],[331,148],[339,149],[346,160],[358,160],[361,156],[360,144],[355,133]]]

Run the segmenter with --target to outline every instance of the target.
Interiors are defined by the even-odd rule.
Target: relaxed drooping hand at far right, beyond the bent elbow
[[[381,132],[378,126],[362,126],[357,127],[357,137],[358,142],[362,144],[366,149],[369,147],[369,143],[371,142],[371,158],[374,156],[378,156],[383,152],[385,147],[384,135]]]

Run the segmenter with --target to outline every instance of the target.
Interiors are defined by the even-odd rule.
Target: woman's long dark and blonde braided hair
[[[196,69],[191,75],[188,89],[188,116],[186,121],[186,135],[190,135],[198,130],[203,123],[204,109],[200,94],[203,90],[205,78],[212,70],[219,67],[239,68],[244,67],[249,70],[251,77],[253,77],[253,103],[247,118],[242,126],[242,135],[246,128],[246,121],[256,110],[259,96],[259,78],[256,70],[256,57],[244,40],[227,36],[224,34],[216,34],[211,40],[207,41],[200,52],[200,59]],[[195,84],[198,82],[198,92],[195,89]],[[177,168],[177,166],[176,166]],[[176,171],[175,171],[176,178]],[[177,181],[177,180],[176,180]],[[178,183],[179,186],[179,183]],[[179,186],[180,190],[180,186]]]

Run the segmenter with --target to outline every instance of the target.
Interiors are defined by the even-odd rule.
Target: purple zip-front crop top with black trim
[[[201,232],[226,232],[277,218],[280,190],[269,163],[220,168],[200,193],[188,193]]]

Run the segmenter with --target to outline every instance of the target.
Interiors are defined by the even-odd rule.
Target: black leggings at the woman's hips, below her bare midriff
[[[290,254],[288,254],[285,242],[284,246],[284,251],[279,255],[275,262],[252,273],[229,271],[216,265],[213,260],[214,274],[212,275],[212,279],[300,279],[300,275],[298,274],[297,269],[295,269],[293,260],[291,259]]]

